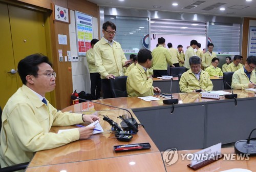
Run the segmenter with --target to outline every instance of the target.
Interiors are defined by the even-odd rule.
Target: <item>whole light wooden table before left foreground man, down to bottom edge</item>
[[[92,104],[91,104],[92,105]],[[86,140],[78,140],[57,148],[36,152],[26,171],[166,171],[161,152],[148,136],[142,126],[138,134],[133,135],[129,142],[118,141],[111,131],[111,125],[102,120],[102,115],[120,123],[117,118],[123,115],[122,110],[95,111],[88,102],[69,106],[62,111],[98,115],[103,133],[95,134]],[[90,111],[88,111],[90,108]],[[100,109],[100,105],[97,105]],[[102,108],[103,109],[103,108]],[[133,113],[131,111],[131,113]],[[134,115],[134,114],[133,114]],[[136,116],[134,115],[136,119]],[[137,119],[138,120],[138,119]],[[52,126],[51,131],[76,128],[77,126]],[[114,145],[150,143],[150,149],[115,153]],[[143,159],[143,161],[141,161]]]

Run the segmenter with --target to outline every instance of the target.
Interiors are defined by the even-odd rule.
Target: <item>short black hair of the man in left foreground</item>
[[[52,63],[49,61],[49,58],[43,54],[32,54],[18,62],[18,74],[20,79],[22,79],[23,84],[27,83],[27,75],[33,75],[35,77],[38,76],[38,65],[43,62],[46,62],[52,67]]]

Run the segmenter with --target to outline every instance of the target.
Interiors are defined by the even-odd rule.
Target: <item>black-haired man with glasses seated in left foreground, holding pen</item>
[[[99,120],[95,115],[57,111],[45,94],[55,88],[56,73],[48,57],[30,55],[18,63],[23,85],[6,103],[2,114],[1,167],[28,162],[35,152],[87,139],[95,126],[80,127],[60,134],[51,126],[74,125]]]

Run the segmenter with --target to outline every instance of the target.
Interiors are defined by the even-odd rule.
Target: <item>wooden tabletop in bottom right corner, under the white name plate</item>
[[[190,169],[187,167],[188,164],[190,164],[190,161],[188,160],[182,160],[180,154],[189,154],[189,153],[195,153],[198,152],[199,150],[180,150],[178,151],[179,159],[175,164],[172,164],[170,166],[166,166],[166,170],[170,172],[183,172],[183,171],[195,171],[193,169]],[[234,148],[233,147],[228,147],[228,148],[222,148],[221,153],[234,153]],[[244,169],[249,169],[251,171],[256,170],[256,157],[250,157],[249,160],[224,160],[223,158],[213,162],[209,165],[206,165],[198,170],[197,172],[203,172],[203,171],[223,171],[223,170],[228,170],[232,168],[244,168]]]

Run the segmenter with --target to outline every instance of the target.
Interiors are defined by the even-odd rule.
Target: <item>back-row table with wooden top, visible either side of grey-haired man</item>
[[[214,85],[213,90],[223,90],[223,78],[210,76],[210,80]],[[153,78],[153,86],[161,89],[162,93],[170,93],[170,79]],[[172,93],[180,93],[179,78],[173,77]]]

